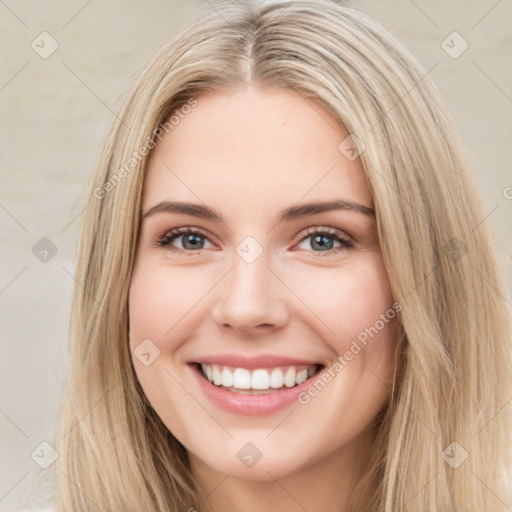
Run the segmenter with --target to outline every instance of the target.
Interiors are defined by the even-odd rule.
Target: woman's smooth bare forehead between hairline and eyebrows
[[[360,159],[338,146],[349,133],[319,101],[287,89],[199,96],[153,150],[143,207],[165,199],[270,208],[343,196],[367,206]]]

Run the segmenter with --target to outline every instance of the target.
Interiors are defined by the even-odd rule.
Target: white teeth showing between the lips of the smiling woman
[[[324,368],[322,364],[287,365],[254,370],[220,364],[194,365],[214,386],[247,395],[262,395],[294,388],[313,378]]]

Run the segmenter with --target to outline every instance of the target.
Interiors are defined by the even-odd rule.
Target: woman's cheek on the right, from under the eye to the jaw
[[[297,281],[333,352],[320,382],[300,403],[322,414],[325,425],[336,426],[326,426],[326,439],[333,444],[355,436],[375,418],[389,399],[396,366],[399,307],[393,307],[380,255],[364,256],[357,264],[332,273],[321,269],[316,279]]]

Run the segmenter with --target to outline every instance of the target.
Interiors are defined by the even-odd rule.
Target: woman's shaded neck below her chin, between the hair
[[[223,474],[189,454],[190,466],[200,495],[201,512],[356,512],[350,498],[360,481],[372,453],[373,431],[364,431],[350,444],[310,463],[293,474],[268,480],[248,480]],[[365,499],[371,499],[365,492]],[[367,503],[356,503],[357,510]]]

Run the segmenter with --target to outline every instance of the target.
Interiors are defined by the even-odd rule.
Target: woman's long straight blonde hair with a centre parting
[[[376,22],[328,0],[216,4],[134,81],[92,178],[78,243],[69,377],[54,440],[57,510],[203,509],[186,450],[148,403],[129,352],[148,158],[134,152],[153,147],[159,127],[172,129],[170,116],[191,99],[249,83],[321,100],[364,144],[404,333],[360,484],[363,495],[377,483],[365,510],[504,510],[497,496],[511,464],[511,331],[471,163],[416,60]]]

